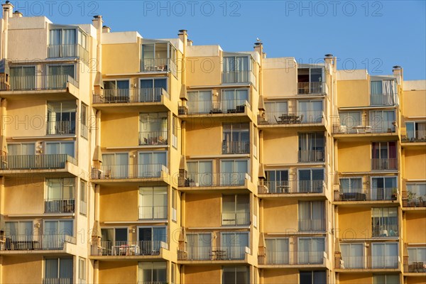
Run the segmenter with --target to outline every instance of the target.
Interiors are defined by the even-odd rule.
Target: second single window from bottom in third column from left
[[[249,225],[249,199],[249,195],[222,195],[222,226]]]

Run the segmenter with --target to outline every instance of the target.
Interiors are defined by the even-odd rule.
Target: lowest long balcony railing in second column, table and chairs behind
[[[92,241],[91,256],[158,256],[164,241]]]

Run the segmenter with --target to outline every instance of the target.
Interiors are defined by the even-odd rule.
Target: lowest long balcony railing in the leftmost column
[[[66,234],[12,235],[4,236],[4,243],[0,244],[0,249],[1,251],[58,250],[63,249],[65,242],[76,244],[76,239]]]

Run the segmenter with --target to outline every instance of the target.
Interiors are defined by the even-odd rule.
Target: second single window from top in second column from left
[[[139,145],[167,144],[167,113],[139,114]]]

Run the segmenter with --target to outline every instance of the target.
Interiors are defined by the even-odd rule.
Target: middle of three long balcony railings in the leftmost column
[[[65,168],[66,163],[77,165],[77,160],[67,154],[6,155],[1,170],[46,170]]]

